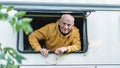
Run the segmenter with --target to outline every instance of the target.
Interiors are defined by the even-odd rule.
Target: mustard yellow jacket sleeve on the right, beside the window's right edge
[[[81,49],[81,41],[80,41],[80,33],[79,33],[79,30],[75,30],[74,34],[73,35],[73,38],[72,38],[72,43],[70,46],[67,47],[67,52],[74,52],[74,51],[77,51],[77,50],[80,50]]]

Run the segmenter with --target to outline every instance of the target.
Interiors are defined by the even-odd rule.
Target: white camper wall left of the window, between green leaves
[[[2,12],[6,12],[6,9],[3,9]],[[9,12],[9,15],[12,17],[17,11],[12,10]],[[17,43],[17,33],[12,29],[8,21],[0,20],[0,43],[3,47],[12,47],[16,49]]]

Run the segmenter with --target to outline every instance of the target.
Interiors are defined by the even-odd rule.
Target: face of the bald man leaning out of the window
[[[62,33],[67,34],[72,30],[74,21],[69,18],[64,18],[60,20],[60,30]]]

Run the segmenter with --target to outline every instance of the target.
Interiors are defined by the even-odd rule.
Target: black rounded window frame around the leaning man
[[[83,41],[82,41],[82,45],[83,45],[83,51],[76,51],[76,52],[71,52],[71,53],[86,53],[87,52],[87,50],[88,50],[88,34],[87,34],[87,12],[86,11],[71,11],[72,13],[70,13],[70,14],[83,14],[82,16],[84,17],[83,19]],[[55,14],[59,14],[59,13],[61,13],[61,14],[64,14],[64,13],[66,13],[65,11],[27,11],[27,13],[35,13],[35,14],[39,14],[39,13],[42,13],[42,14],[51,14],[51,13],[55,13]],[[79,16],[79,15],[78,15]],[[20,49],[19,49],[19,43],[20,43],[20,32],[18,32],[17,33],[17,50],[20,52],[20,53],[40,53],[40,52],[35,52],[35,51],[30,51],[30,52],[28,52],[28,51],[21,51]],[[23,37],[24,38],[24,37]],[[23,46],[24,46],[24,44],[23,44]],[[50,52],[50,53],[54,53],[54,52]]]

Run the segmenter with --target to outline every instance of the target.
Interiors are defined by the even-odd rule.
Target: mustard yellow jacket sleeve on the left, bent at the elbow
[[[29,35],[29,43],[35,51],[40,51],[41,45],[39,44],[39,40],[47,38],[48,25],[35,30],[33,33]]]

